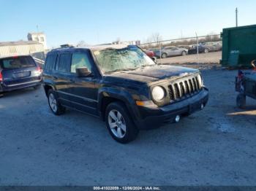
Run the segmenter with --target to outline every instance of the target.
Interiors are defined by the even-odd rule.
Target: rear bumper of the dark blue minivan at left
[[[13,85],[4,85],[3,82],[0,83],[0,93],[1,92],[10,92],[12,90],[20,90],[26,87],[34,87],[36,85],[40,85],[42,82],[42,78],[39,78],[37,80],[29,81],[29,82],[23,82],[23,83],[17,83]]]

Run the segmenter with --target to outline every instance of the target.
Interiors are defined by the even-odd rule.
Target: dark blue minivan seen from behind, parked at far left
[[[42,69],[30,55],[0,58],[0,95],[11,90],[39,87]]]

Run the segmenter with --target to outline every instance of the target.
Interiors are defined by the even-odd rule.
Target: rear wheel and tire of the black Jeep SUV
[[[64,114],[66,110],[64,106],[61,106],[61,104],[57,99],[56,92],[52,89],[48,90],[48,104],[53,114],[56,114],[56,115]]]

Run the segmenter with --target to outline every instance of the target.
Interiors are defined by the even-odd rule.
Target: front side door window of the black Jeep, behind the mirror
[[[86,67],[89,71],[91,71],[91,63],[88,55],[84,52],[73,53],[70,71],[75,73],[75,69],[83,67]]]

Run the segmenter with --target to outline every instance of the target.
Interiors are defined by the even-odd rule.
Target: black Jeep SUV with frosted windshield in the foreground
[[[178,122],[208,101],[200,71],[159,66],[139,47],[123,44],[52,50],[43,81],[54,114],[71,108],[102,117],[121,143],[138,130]]]

